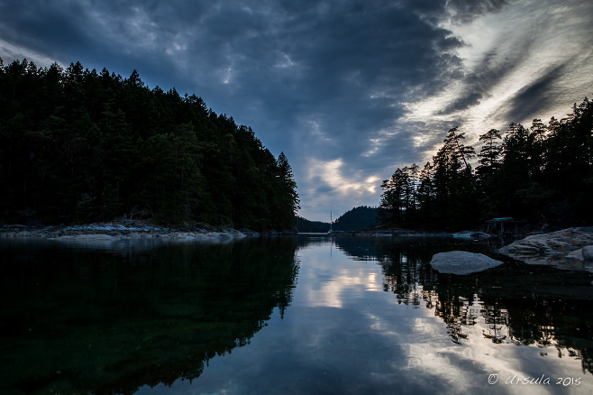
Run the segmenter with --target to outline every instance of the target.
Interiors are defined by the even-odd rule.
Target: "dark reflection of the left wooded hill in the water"
[[[0,392],[132,393],[193,380],[289,306],[296,239],[0,245]]]

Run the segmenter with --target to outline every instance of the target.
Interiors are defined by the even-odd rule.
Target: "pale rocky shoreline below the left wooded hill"
[[[208,225],[160,226],[133,220],[121,220],[87,225],[59,225],[31,227],[26,225],[0,226],[3,238],[44,238],[75,242],[115,242],[128,239],[160,238],[174,241],[229,241],[244,237],[290,234],[290,232],[255,232],[250,229]]]

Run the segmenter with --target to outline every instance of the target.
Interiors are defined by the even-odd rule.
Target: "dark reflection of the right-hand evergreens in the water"
[[[384,290],[393,292],[398,304],[433,310],[454,343],[462,344],[468,338],[466,329],[483,318],[482,333],[495,344],[553,346],[559,356],[580,359],[583,371],[593,372],[591,273],[497,256],[505,264],[488,271],[440,274],[429,264],[434,253],[492,250],[480,243],[436,237],[335,240],[338,248],[357,259],[375,258],[384,274]]]

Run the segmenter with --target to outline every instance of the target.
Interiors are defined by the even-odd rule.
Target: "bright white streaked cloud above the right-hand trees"
[[[496,11],[466,24],[442,23],[466,44],[456,50],[460,72],[443,76],[442,91],[414,96],[406,105],[404,124],[440,129],[442,135],[447,126],[459,125],[476,145],[479,134],[491,128],[505,130],[511,122],[562,115],[571,100],[582,99],[574,94],[586,94],[585,80],[590,87],[591,78],[585,76],[593,72],[593,6],[523,1]],[[419,140],[426,142],[416,147],[424,150],[426,160],[441,143],[426,136]]]

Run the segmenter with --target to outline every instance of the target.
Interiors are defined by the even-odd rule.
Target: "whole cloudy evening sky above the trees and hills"
[[[0,0],[0,58],[80,61],[196,94],[287,155],[300,216],[378,206],[459,127],[565,117],[593,94],[590,0]]]

